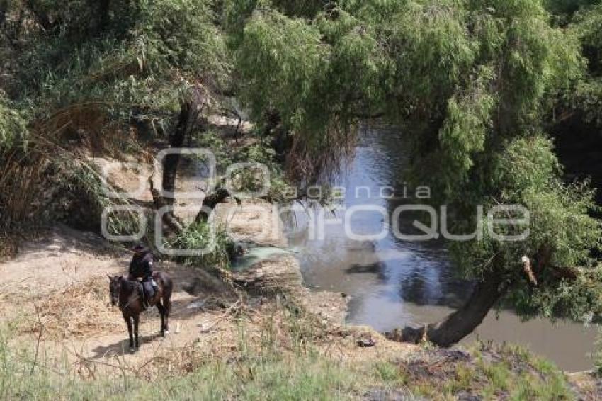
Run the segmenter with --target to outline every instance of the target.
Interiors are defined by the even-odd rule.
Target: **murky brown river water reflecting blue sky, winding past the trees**
[[[402,135],[394,130],[363,132],[353,163],[336,179],[337,186],[346,188],[343,207],[372,205],[392,211],[402,203],[416,203],[407,199],[415,191],[407,188],[402,176],[405,147]],[[394,187],[395,198],[382,198],[382,186]],[[358,187],[362,188],[356,196]],[[389,191],[385,193],[388,195]],[[297,232],[289,240],[301,261],[307,286],[351,296],[349,322],[368,324],[377,330],[421,325],[440,320],[462,305],[470,283],[455,278],[441,243],[396,239],[385,219],[375,211],[353,213],[349,227],[356,234],[382,230],[385,235],[370,241],[349,239],[343,222],[334,220],[344,221],[344,215],[344,209],[328,215],[333,220],[326,223],[324,237],[312,238],[311,229],[305,224],[307,215],[296,213]],[[411,221],[402,222],[402,226]],[[476,335],[525,344],[567,371],[581,371],[592,366],[589,355],[594,349],[596,329],[573,322],[521,322],[511,311],[501,311],[497,317],[496,312],[491,312],[477,333],[464,342],[475,341]]]

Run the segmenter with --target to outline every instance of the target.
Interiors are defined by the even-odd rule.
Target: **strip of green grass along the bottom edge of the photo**
[[[0,400],[351,400],[374,391],[385,397],[392,392],[434,400],[455,399],[461,393],[486,400],[574,398],[564,373],[516,346],[481,345],[459,361],[429,349],[403,361],[392,355],[345,363],[321,356],[310,341],[300,341],[311,336],[299,327],[281,323],[278,330],[285,337],[278,337],[276,322],[268,320],[256,341],[248,324],[240,320],[238,351],[229,358],[193,356],[197,361],[191,363],[191,373],[172,372],[152,381],[126,372],[84,379],[66,359],[38,357],[44,362],[33,363],[33,350],[8,346],[7,328],[0,332]]]

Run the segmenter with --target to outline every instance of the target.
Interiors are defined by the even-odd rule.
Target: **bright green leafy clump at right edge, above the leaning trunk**
[[[496,185],[505,183],[501,203],[521,202],[531,211],[531,235],[523,246],[554,249],[557,266],[587,266],[589,252],[601,238],[600,222],[588,215],[594,208],[593,193],[579,183],[563,185],[550,141],[515,140],[499,163]]]

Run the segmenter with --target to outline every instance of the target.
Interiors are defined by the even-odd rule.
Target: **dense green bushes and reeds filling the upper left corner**
[[[9,55],[1,72],[6,69],[9,79],[0,101],[0,167],[38,166],[30,179],[21,173],[31,188],[3,180],[3,193],[31,206],[10,213],[18,218],[40,218],[35,212],[45,209],[61,220],[83,217],[86,227],[98,222],[110,202],[98,177],[81,168],[85,162],[72,159],[85,159],[70,152],[74,142],[140,154],[136,134],[150,139],[171,130],[184,92],[200,85],[217,89],[231,73],[212,0],[11,1],[2,11],[21,26],[10,33],[18,49],[1,43],[2,55]],[[23,148],[25,139],[36,145],[25,157],[5,158]],[[46,208],[34,186],[41,193],[74,192],[71,200],[68,193],[55,196],[57,204]],[[30,198],[38,199],[30,203]],[[110,225],[115,233],[124,232],[129,220],[111,218]]]

